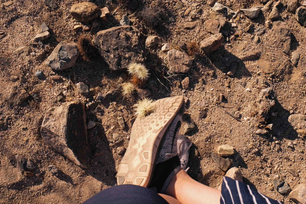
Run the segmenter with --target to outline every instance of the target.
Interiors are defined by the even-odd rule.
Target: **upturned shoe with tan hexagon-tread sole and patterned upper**
[[[129,146],[118,169],[118,185],[147,187],[157,163],[173,160],[174,166],[177,161],[179,164],[176,135],[185,110],[184,97],[162,98],[153,103],[154,112],[137,117],[132,126]]]

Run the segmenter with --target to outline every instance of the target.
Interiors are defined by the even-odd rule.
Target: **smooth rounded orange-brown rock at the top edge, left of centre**
[[[91,2],[82,2],[71,6],[70,13],[76,20],[89,21],[99,16],[99,7]]]

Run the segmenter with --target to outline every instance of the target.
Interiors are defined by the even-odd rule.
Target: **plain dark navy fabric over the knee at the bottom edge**
[[[149,188],[136,185],[119,185],[107,188],[83,204],[167,204],[168,202]]]

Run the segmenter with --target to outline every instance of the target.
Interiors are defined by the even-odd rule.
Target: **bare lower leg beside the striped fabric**
[[[183,169],[174,176],[166,194],[176,198],[182,204],[219,204],[221,197],[221,191],[193,180]]]

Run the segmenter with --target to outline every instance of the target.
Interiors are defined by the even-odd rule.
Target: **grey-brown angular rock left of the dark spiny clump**
[[[45,64],[51,69],[63,70],[73,67],[79,56],[77,46],[70,43],[58,43]]]

